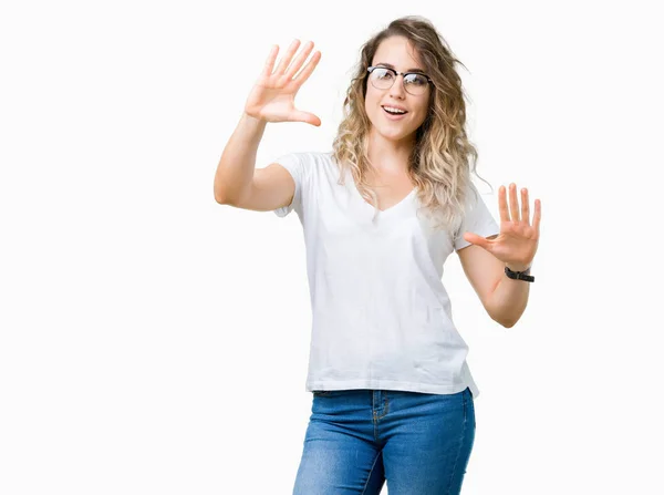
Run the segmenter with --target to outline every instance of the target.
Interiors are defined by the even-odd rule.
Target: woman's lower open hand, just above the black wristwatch
[[[521,210],[517,199],[517,185],[509,185],[509,210],[506,200],[506,188],[498,189],[498,207],[500,209],[500,234],[494,239],[487,239],[476,234],[464,233],[464,239],[479,246],[510,270],[522,271],[529,268],[537,251],[539,241],[539,224],[541,218],[541,202],[535,200],[535,215],[530,225],[530,206],[528,189],[521,189]],[[511,215],[511,218],[510,218]]]

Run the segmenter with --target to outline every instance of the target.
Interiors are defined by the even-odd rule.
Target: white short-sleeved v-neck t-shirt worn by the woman
[[[477,398],[442,277],[447,256],[470,244],[464,231],[499,234],[481,197],[467,195],[464,225],[453,234],[416,215],[415,189],[372,223],[374,207],[350,171],[338,184],[331,152],[274,162],[295,182],[292,203],[274,213],[294,209],[304,230],[312,309],[305,390],[452,394],[469,386]]]

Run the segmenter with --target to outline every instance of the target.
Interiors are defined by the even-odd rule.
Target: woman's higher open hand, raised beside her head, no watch
[[[304,81],[309,79],[319,60],[321,60],[321,52],[317,51],[307,65],[304,65],[302,72],[293,79],[293,75],[300,70],[311,53],[313,42],[307,42],[304,49],[291,64],[291,60],[299,45],[299,40],[294,40],[291,43],[286,55],[279,62],[277,70],[273,70],[273,68],[279,47],[272,47],[264,69],[251,93],[249,93],[249,97],[245,104],[245,113],[266,122],[305,122],[311,125],[321,125],[321,120],[314,114],[301,112],[295,109],[295,94],[302,84],[304,84]]]

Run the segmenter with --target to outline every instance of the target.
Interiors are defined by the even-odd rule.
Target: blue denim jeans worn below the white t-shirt
[[[459,494],[474,441],[470,389],[314,391],[293,495]]]

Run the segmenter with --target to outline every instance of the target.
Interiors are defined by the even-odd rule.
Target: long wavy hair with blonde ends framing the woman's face
[[[478,194],[470,181],[470,172],[479,177],[476,172],[477,151],[466,135],[465,94],[461,79],[454,66],[455,63],[463,63],[427,19],[417,16],[396,19],[362,47],[344,100],[343,120],[332,146],[332,155],[341,169],[340,184],[344,183],[343,177],[350,168],[357,190],[374,205],[375,214],[378,214],[377,196],[366,182],[371,171],[371,121],[364,109],[364,97],[367,68],[381,42],[394,35],[411,41],[433,81],[428,114],[416,131],[408,175],[417,188],[422,208],[428,216],[438,219],[433,228],[447,228],[456,233],[466,213],[467,192]]]

